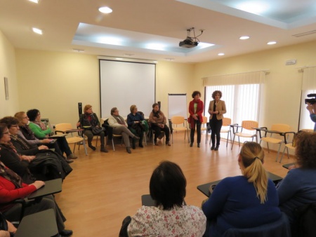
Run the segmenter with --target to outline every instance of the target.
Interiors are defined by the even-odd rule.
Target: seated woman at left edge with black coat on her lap
[[[20,135],[18,135],[18,130],[20,130],[20,128],[18,126],[17,118],[6,116],[0,119],[0,123],[6,124],[11,138],[11,140],[8,141],[11,142],[11,146],[2,151],[6,154],[6,157],[3,158],[4,161],[8,157],[11,157],[11,162],[13,162],[17,157],[16,154],[20,155],[22,159],[29,162],[28,168],[37,180],[46,181],[60,177],[63,180],[72,171],[70,165],[65,161],[65,157],[60,156],[60,154],[55,151],[49,150],[48,147],[44,145],[39,147],[31,145],[27,140],[20,137]],[[4,141],[2,142],[4,146],[8,144],[5,139],[6,137],[4,137]],[[12,146],[14,149],[11,148]],[[35,156],[34,159],[32,158],[33,156]],[[5,161],[4,163],[9,162]],[[11,169],[15,170],[13,167]]]

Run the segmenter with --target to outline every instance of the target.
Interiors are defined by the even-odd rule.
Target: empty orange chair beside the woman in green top
[[[84,151],[86,152],[86,155],[88,155],[88,151],[86,150],[86,140],[84,139],[84,136],[73,136],[73,133],[77,133],[78,130],[72,129],[71,123],[58,123],[55,125],[55,134],[58,133],[62,134],[71,134],[71,137],[66,137],[66,140],[68,144],[74,144],[74,149],[76,148],[76,144],[78,145],[78,150],[80,149],[80,143],[84,145]],[[72,151],[74,153],[74,150]]]

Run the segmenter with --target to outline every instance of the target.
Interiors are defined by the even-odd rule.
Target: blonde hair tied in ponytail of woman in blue
[[[265,156],[262,147],[256,142],[246,142],[240,151],[244,165],[244,176],[248,182],[254,183],[260,203],[267,201],[268,174],[263,168]]]

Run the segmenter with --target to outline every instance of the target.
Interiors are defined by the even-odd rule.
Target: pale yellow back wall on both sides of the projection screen
[[[40,50],[16,50],[20,109],[37,108],[51,124],[72,123],[78,102],[92,104],[100,116],[98,59],[93,55]],[[191,93],[193,65],[159,62],[156,99],[168,115],[168,93]],[[117,100],[117,98],[113,98]],[[148,113],[152,108],[148,108]],[[144,111],[145,112],[145,111]]]

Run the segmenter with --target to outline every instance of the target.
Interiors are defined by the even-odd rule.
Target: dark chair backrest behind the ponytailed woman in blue
[[[276,222],[263,224],[254,228],[237,229],[232,228],[225,231],[223,237],[291,237],[291,228],[287,215],[282,213],[282,217]]]

